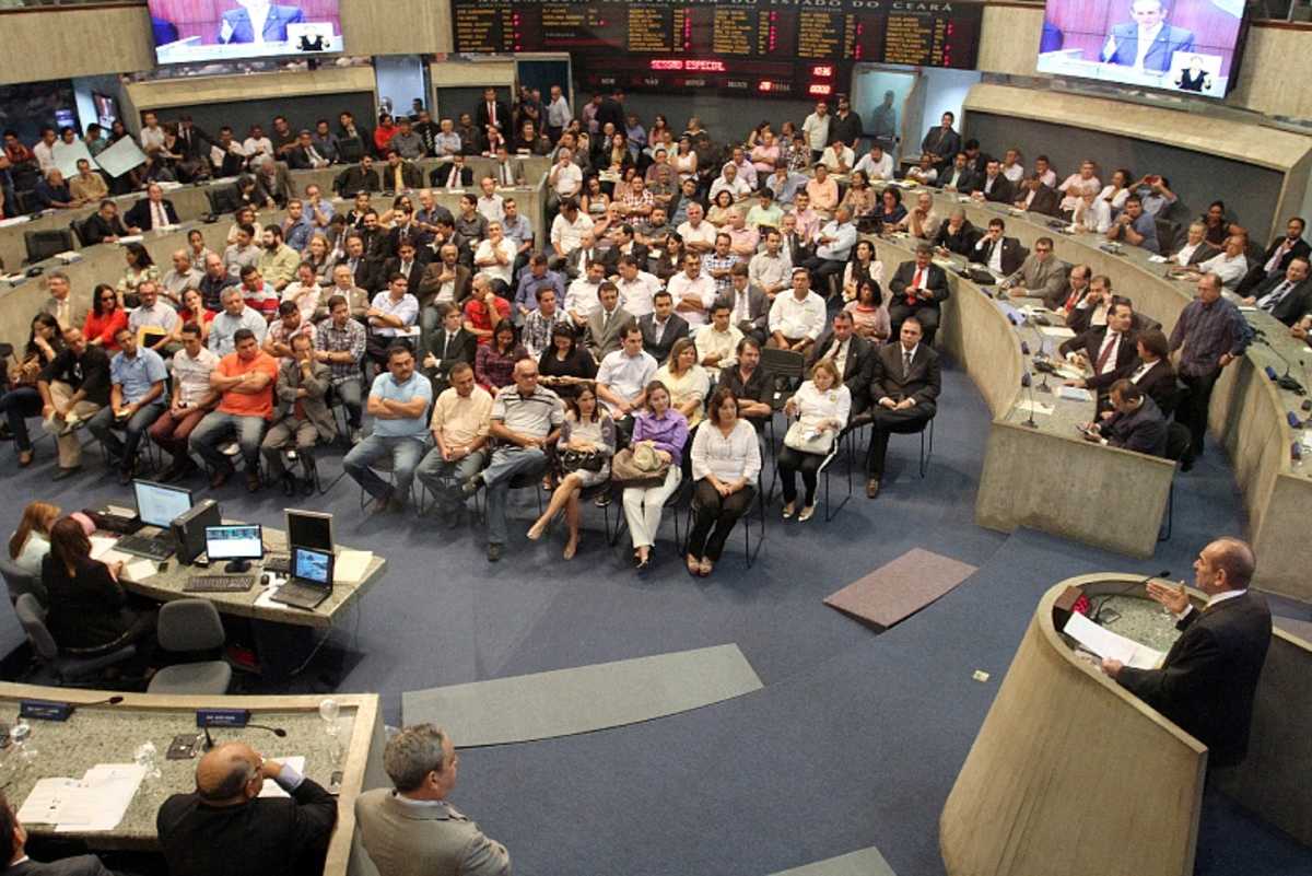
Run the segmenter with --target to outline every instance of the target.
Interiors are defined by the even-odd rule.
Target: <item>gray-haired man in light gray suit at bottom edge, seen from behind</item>
[[[398,733],[383,751],[394,789],[356,797],[356,821],[380,876],[509,876],[505,846],[446,801],[461,758],[434,724]]]

